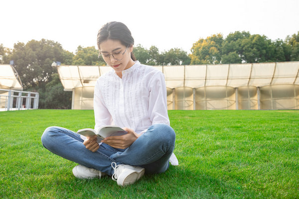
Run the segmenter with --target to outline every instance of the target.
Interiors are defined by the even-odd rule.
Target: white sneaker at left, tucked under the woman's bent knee
[[[76,178],[79,179],[94,179],[94,178],[101,178],[101,176],[107,175],[98,170],[88,168],[83,165],[77,165],[76,167],[74,167],[73,174]]]

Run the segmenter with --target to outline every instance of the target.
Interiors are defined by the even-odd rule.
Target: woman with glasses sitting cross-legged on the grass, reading
[[[48,127],[42,143],[49,151],[76,162],[77,178],[110,175],[118,185],[139,180],[145,172],[162,173],[169,167],[175,132],[169,126],[163,74],[136,61],[134,39],[121,22],[109,22],[98,32],[99,56],[113,70],[95,85],[95,129],[105,125],[123,127],[128,133],[100,143],[97,136],[84,137],[61,127]]]

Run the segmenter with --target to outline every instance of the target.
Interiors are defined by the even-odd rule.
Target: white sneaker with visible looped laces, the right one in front
[[[116,165],[115,162],[113,162],[111,166],[114,169],[112,180],[117,181],[119,186],[127,186],[135,183],[145,174],[146,171],[142,167]]]

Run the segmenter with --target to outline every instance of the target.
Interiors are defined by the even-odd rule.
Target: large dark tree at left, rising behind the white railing
[[[8,58],[14,61],[24,89],[44,88],[45,84],[51,81],[52,74],[57,73],[56,69],[51,67],[53,61],[64,63],[67,60],[62,46],[46,39],[31,40],[27,44],[18,42],[14,44]]]

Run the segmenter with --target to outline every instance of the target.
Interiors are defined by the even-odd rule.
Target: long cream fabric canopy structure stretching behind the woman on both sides
[[[154,66],[165,76],[168,109],[299,109],[299,62]],[[58,66],[73,109],[92,109],[108,66]]]

